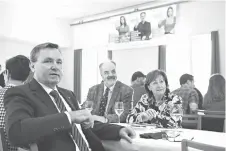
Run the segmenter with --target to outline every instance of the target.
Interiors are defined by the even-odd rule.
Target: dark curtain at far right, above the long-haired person
[[[211,74],[220,73],[219,35],[218,31],[211,32],[212,55]]]

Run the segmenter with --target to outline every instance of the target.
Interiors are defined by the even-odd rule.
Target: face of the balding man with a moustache
[[[115,70],[115,65],[111,62],[106,62],[102,65],[100,69],[100,74],[107,87],[111,87],[115,84],[117,80],[117,74]]]

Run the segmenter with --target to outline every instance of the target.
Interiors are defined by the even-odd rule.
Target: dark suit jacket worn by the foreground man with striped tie
[[[79,106],[73,92],[58,88],[72,110]],[[6,131],[10,142],[19,147],[37,143],[39,151],[75,151],[69,136],[71,124],[65,113],[58,113],[51,98],[36,81],[9,89],[5,93]],[[118,140],[121,127],[95,123],[83,130],[92,151],[103,151],[101,140]]]

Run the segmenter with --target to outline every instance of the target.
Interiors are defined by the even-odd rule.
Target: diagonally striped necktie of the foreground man
[[[58,94],[58,92],[56,90],[52,90],[49,94],[54,98],[55,103],[56,103],[58,109],[60,110],[60,112],[67,111],[62,99],[60,98],[60,95]],[[84,138],[82,137],[81,133],[79,132],[76,124],[72,125],[72,136],[80,151],[89,151],[89,147],[87,146]]]

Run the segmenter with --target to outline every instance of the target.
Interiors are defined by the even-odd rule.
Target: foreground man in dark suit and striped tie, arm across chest
[[[80,110],[72,91],[57,84],[62,77],[58,45],[44,43],[31,51],[34,79],[5,93],[6,130],[15,146],[36,143],[39,151],[104,151],[100,140],[131,142],[129,128],[96,122]]]

